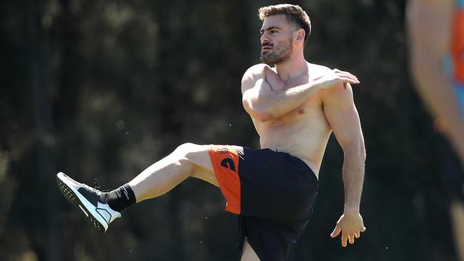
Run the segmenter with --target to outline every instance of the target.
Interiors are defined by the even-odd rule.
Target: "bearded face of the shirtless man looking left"
[[[293,51],[293,26],[285,15],[278,14],[264,19],[261,33],[261,61],[282,63]]]

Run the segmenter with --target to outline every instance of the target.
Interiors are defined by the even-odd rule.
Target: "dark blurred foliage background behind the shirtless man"
[[[258,146],[240,79],[259,62],[260,6],[278,1],[31,0],[0,4],[0,260],[235,260],[236,217],[189,179],[123,213],[104,235],[55,175],[104,188],[185,142]],[[455,260],[440,136],[408,69],[405,1],[291,1],[313,33],[306,58],[360,78],[368,150],[346,249],[343,152],[331,138],[313,219],[288,260]]]

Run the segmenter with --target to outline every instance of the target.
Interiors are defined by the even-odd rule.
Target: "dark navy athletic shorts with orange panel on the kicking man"
[[[229,145],[208,149],[226,210],[239,215],[238,251],[245,237],[262,260],[285,260],[313,214],[318,180],[288,153]]]

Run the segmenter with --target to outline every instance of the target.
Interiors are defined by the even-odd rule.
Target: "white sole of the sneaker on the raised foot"
[[[84,217],[86,218],[87,222],[89,222],[90,225],[94,227],[94,230],[104,233],[106,231],[106,228],[104,227],[104,225],[101,224],[101,220],[95,217],[95,215],[99,215],[99,213],[93,213],[94,211],[91,211],[91,209],[89,209],[88,207],[90,205],[90,208],[95,208],[95,206],[92,205],[89,202],[89,200],[86,200],[84,196],[79,195],[79,193],[76,193],[76,190],[72,188],[71,185],[66,184],[66,182],[64,181],[66,177],[63,177],[63,175],[65,174],[58,173],[58,175],[56,175],[56,182],[58,183],[58,188],[61,191],[61,194],[64,195],[64,198],[66,198],[66,200],[68,200],[69,203],[81,210],[81,213],[84,214]]]

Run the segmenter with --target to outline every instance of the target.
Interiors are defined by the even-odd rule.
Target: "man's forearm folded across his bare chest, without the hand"
[[[319,86],[308,83],[292,88],[256,93],[256,96],[250,99],[250,107],[261,121],[269,121],[297,108],[318,91],[321,91]]]

